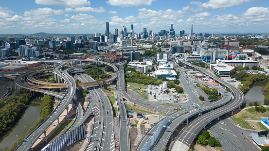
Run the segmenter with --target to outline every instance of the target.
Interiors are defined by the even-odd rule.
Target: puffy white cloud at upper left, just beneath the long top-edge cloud
[[[55,10],[48,7],[25,11],[23,16],[56,16],[64,13],[64,10]]]

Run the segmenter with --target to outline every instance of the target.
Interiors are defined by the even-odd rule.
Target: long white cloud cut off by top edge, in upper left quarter
[[[64,7],[82,7],[82,6],[90,6],[90,1],[88,0],[36,0],[36,4],[57,5],[57,6],[64,6]]]

